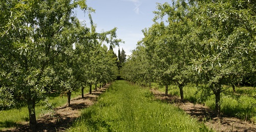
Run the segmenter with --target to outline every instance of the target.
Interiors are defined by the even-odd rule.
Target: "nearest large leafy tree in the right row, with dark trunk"
[[[251,1],[194,4],[196,26],[190,42],[199,53],[194,58],[194,68],[214,93],[215,111],[220,116],[223,85],[229,84],[234,75],[244,76],[255,70],[255,4]]]

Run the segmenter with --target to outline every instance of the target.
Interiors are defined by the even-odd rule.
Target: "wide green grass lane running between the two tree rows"
[[[83,109],[69,131],[209,131],[172,104],[154,99],[148,89],[114,82],[98,103]]]

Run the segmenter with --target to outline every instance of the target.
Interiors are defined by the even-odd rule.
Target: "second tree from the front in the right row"
[[[159,45],[157,47],[158,52],[156,53],[168,65],[164,71],[170,76],[167,81],[172,81],[178,85],[181,100],[183,100],[183,86],[191,82],[194,75],[189,63],[194,54],[191,52],[190,45],[185,37],[190,33],[190,27],[193,25],[190,20],[193,14],[189,10],[190,5],[184,1],[176,1],[172,6],[168,3],[158,4],[157,8],[158,11],[154,12],[156,14],[155,23],[157,19],[163,19],[163,16],[167,16],[165,22],[167,26],[164,26],[164,22],[161,22],[162,28],[159,30],[162,30],[162,32],[156,38],[159,39],[157,43]]]

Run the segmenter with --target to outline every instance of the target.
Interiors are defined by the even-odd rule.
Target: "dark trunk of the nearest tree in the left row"
[[[36,128],[36,117],[35,117],[35,101],[31,99],[31,95],[27,100],[28,110],[29,110],[29,128],[31,130],[35,130]]]

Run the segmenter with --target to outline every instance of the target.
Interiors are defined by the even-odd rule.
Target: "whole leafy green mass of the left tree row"
[[[116,28],[95,32],[90,15],[94,10],[87,7],[84,0],[13,0],[1,1],[1,5],[0,107],[27,104],[30,127],[35,128],[35,104],[53,90],[67,92],[70,98],[71,92],[86,82],[103,78],[96,71],[100,67],[89,71],[97,63],[91,59],[106,52],[106,48],[101,47],[102,41],[115,46],[121,40],[116,39]],[[89,13],[91,29],[80,24],[73,13],[78,6]],[[101,64],[108,61],[97,59]],[[113,71],[105,75],[112,79],[112,74]]]

